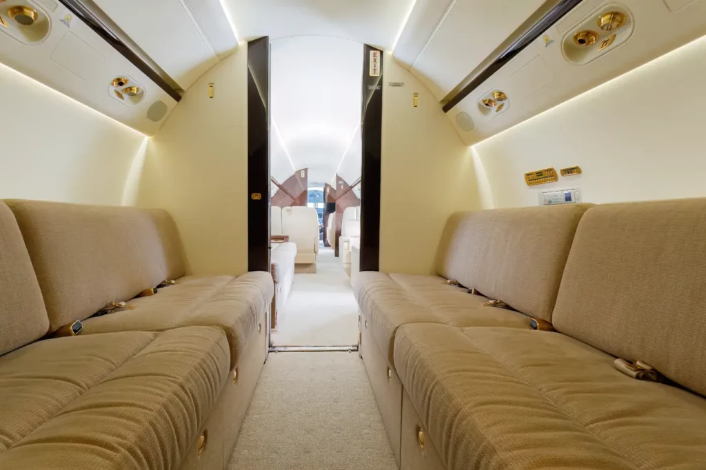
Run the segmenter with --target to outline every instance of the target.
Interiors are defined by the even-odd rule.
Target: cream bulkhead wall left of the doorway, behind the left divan
[[[189,88],[148,145],[138,205],[174,217],[194,275],[247,271],[246,104],[242,47]]]

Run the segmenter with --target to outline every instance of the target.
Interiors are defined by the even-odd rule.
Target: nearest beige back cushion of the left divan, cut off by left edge
[[[40,285],[12,211],[0,202],[0,354],[49,330]]]

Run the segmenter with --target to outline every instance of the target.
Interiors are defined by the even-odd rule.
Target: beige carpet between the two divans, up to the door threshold
[[[357,353],[271,353],[229,470],[396,470]]]

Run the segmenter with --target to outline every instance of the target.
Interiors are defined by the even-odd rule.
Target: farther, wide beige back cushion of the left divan
[[[49,331],[184,275],[181,241],[163,210],[8,201],[49,314]]]

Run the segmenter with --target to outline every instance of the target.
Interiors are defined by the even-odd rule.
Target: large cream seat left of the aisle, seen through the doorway
[[[285,207],[282,209],[282,234],[297,245],[298,265],[316,263],[318,253],[318,214],[313,207]]]

